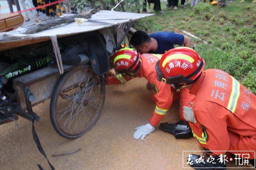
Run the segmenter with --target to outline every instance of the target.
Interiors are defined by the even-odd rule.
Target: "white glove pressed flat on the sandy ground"
[[[133,138],[143,140],[148,134],[154,132],[155,128],[149,123],[135,128],[136,132],[133,134]]]

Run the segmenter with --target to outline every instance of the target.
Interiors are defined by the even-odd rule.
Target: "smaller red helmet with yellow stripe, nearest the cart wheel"
[[[135,73],[140,68],[140,53],[132,48],[122,48],[112,57],[117,73]]]

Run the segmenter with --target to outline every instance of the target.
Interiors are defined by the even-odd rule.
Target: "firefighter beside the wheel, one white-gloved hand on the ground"
[[[146,135],[155,130],[155,126],[166,115],[172,101],[179,99],[180,93],[184,97],[180,97],[180,106],[189,105],[194,95],[188,93],[187,89],[176,92],[172,87],[165,83],[159,82],[156,78],[155,65],[161,58],[160,54],[144,53],[140,55],[137,51],[131,48],[123,48],[117,51],[112,57],[112,63],[117,73],[115,77],[106,77],[107,85],[121,84],[129,81],[134,77],[145,77],[152,87],[154,96],[153,101],[156,103],[156,109],[146,125],[135,128],[134,138],[143,140]],[[188,95],[188,96],[186,96]],[[182,107],[180,111],[182,112]],[[183,113],[180,113],[180,119],[184,120]]]

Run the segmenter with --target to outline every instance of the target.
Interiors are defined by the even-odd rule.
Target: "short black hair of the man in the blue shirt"
[[[139,31],[134,32],[134,34],[132,34],[130,43],[132,45],[140,46],[143,43],[150,42],[150,41],[151,41],[151,39],[148,36],[148,34],[144,31],[139,30]]]

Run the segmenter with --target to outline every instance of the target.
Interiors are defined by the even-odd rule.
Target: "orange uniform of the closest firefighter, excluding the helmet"
[[[190,93],[196,95],[196,124],[190,127],[201,146],[215,154],[230,148],[256,151],[256,96],[251,91],[228,73],[208,69]],[[254,158],[254,152],[249,154]]]

